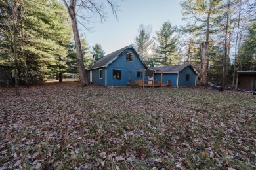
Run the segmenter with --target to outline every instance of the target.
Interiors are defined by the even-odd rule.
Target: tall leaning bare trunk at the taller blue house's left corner
[[[64,0],[63,0],[64,1]],[[71,5],[68,6],[66,1],[64,1],[66,7],[68,8],[68,13],[70,14],[70,20],[72,24],[72,29],[73,29],[73,34],[74,34],[74,39],[75,39],[75,48],[76,48],[76,53],[77,53],[77,67],[79,71],[79,77],[81,80],[82,86],[87,86],[88,82],[85,78],[85,65],[83,64],[83,52],[81,48],[81,41],[79,37],[79,31],[77,27],[77,18],[75,14],[75,5],[76,1],[70,1]]]

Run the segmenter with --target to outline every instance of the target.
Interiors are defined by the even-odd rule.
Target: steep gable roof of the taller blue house
[[[119,50],[116,50],[115,52],[112,52],[106,56],[104,56],[103,58],[99,59],[98,61],[96,61],[96,63],[91,66],[88,70],[92,70],[92,69],[98,69],[101,67],[108,67],[108,65],[110,65],[110,63],[112,63],[113,61],[115,61],[120,54],[122,54],[125,50],[127,50],[128,48],[131,48],[135,54],[139,57],[139,54],[136,52],[136,50],[133,48],[132,45],[129,46],[125,46]],[[139,57],[140,58],[140,57]],[[148,67],[146,66],[146,64],[140,59],[140,61],[142,62],[142,64],[148,69]]]

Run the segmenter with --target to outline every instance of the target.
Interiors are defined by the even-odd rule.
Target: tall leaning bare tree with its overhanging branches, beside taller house
[[[100,17],[101,22],[106,20],[106,6],[104,5],[103,1],[96,1],[96,0],[62,0],[66,8],[68,9],[68,13],[70,14],[70,20],[72,24],[74,40],[75,40],[75,48],[77,52],[77,67],[79,71],[79,76],[81,80],[82,86],[87,86],[88,82],[85,77],[85,65],[83,63],[83,52],[81,48],[81,41],[79,37],[79,30],[77,22],[77,16],[81,17],[82,20],[86,22],[93,22],[90,18],[93,16],[98,15]],[[108,5],[110,5],[112,9],[112,14],[117,18],[117,3],[116,1],[106,0]],[[78,14],[81,13],[81,15]],[[88,16],[87,16],[88,14]],[[82,22],[79,22],[82,24]],[[83,25],[83,24],[82,24]],[[85,25],[83,25],[85,26]],[[86,27],[86,26],[85,26]],[[86,27],[88,28],[88,27]]]

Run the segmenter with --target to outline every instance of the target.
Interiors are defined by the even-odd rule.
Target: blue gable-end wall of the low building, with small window
[[[189,75],[189,81],[186,81],[186,75]],[[192,70],[191,67],[186,67],[179,72],[179,83],[178,86],[195,86],[196,73]]]

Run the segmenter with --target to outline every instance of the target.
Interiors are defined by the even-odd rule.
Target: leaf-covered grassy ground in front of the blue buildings
[[[206,88],[0,88],[0,169],[255,169],[256,97]]]

